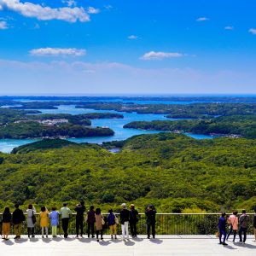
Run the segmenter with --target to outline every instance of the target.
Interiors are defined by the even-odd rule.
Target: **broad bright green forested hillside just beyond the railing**
[[[74,205],[81,199],[104,211],[124,201],[140,211],[153,203],[158,212],[256,206],[256,140],[198,141],[160,133],[131,137],[118,154],[62,143],[0,154],[0,207],[16,201],[61,207],[62,201]]]

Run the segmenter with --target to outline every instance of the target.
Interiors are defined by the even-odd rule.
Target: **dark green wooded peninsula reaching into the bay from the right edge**
[[[239,135],[241,137],[256,138],[256,116],[236,115],[215,119],[194,119],[178,121],[131,122],[124,128],[134,128],[156,131],[182,131],[195,134]]]

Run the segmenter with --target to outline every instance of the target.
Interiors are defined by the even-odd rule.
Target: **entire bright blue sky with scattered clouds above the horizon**
[[[0,95],[256,94],[254,0],[0,0]]]

